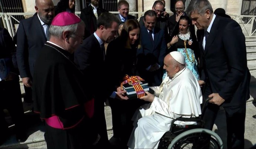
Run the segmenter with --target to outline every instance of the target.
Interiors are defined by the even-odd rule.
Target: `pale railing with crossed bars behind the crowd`
[[[79,12],[75,12],[78,16],[80,15]],[[110,13],[113,14],[118,14],[118,11],[110,11]],[[138,14],[138,18],[140,18],[141,15],[144,14],[144,12],[129,12],[130,14]],[[34,12],[32,13],[0,13],[0,18],[2,19],[3,26],[6,28],[10,35],[13,37],[16,34],[16,24],[19,24],[19,20],[17,20],[14,15],[23,15],[23,16],[28,16],[28,15],[33,15],[35,14]],[[256,38],[256,15],[230,15],[232,19],[236,20],[244,33],[245,37],[255,37]],[[244,20],[249,20],[249,21],[244,21]]]

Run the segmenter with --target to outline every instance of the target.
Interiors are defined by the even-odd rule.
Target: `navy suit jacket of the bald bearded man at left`
[[[37,17],[21,20],[17,30],[17,64],[20,77],[32,77],[39,51],[47,41],[43,26]]]

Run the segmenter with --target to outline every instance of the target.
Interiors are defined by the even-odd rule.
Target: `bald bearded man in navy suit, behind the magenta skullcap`
[[[47,41],[54,17],[52,0],[36,0],[36,14],[20,21],[17,30],[17,64],[26,87],[32,87],[33,67],[39,51]]]

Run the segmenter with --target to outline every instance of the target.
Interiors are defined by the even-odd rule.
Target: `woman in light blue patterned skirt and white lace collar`
[[[189,31],[189,22],[190,20],[186,15],[180,17],[180,20],[177,23],[179,33],[172,38],[168,45],[171,45],[171,51],[178,51],[184,56],[187,68],[191,70],[196,79],[199,80],[197,67],[198,59],[195,56],[195,51],[197,52],[199,47],[196,38],[193,38]]]

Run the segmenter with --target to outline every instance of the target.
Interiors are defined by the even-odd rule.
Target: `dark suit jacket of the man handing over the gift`
[[[74,62],[85,75],[88,86],[91,86],[91,93],[97,99],[105,99],[110,96],[112,90],[104,87],[107,85],[104,83],[106,80],[104,78],[104,52],[93,34],[83,40],[83,44],[75,51],[74,56]]]

